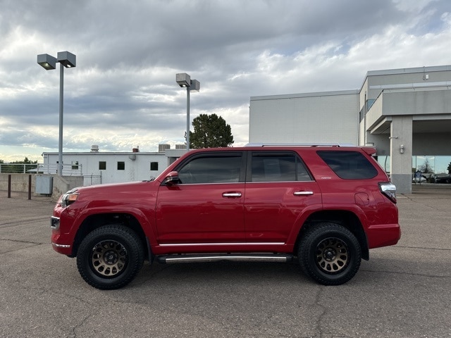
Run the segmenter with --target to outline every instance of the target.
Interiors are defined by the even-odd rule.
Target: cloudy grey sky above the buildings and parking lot
[[[64,151],[157,151],[191,118],[221,115],[248,142],[250,96],[359,89],[366,72],[451,64],[449,0],[0,0],[0,159],[58,151],[59,71],[70,51]]]

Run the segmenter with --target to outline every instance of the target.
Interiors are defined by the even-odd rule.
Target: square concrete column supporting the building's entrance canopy
[[[393,116],[390,126],[390,178],[401,194],[412,193],[412,115]]]

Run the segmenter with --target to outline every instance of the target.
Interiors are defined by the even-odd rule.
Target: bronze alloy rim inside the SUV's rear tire
[[[338,238],[323,239],[316,246],[316,264],[325,273],[339,273],[346,268],[348,260],[347,247]]]

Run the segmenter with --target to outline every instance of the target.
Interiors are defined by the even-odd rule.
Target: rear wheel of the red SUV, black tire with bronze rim
[[[342,225],[311,226],[299,243],[302,271],[323,285],[340,285],[354,277],[362,261],[357,238]]]

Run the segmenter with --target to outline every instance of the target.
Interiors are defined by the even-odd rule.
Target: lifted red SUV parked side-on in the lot
[[[144,182],[79,187],[51,218],[56,251],[117,289],[152,263],[292,261],[342,284],[369,249],[396,244],[396,188],[372,157],[339,145],[249,144],[189,151]]]

